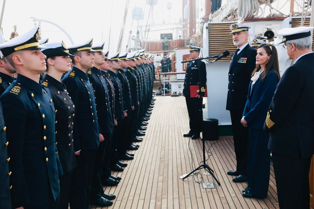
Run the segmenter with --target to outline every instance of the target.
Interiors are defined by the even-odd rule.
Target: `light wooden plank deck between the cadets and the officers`
[[[128,166],[123,172],[113,173],[122,177],[121,182],[105,188],[106,193],[117,196],[108,208],[279,208],[272,165],[265,199],[243,198],[241,190],[246,183],[233,183],[232,177],[226,174],[236,168],[232,137],[221,137],[209,150],[212,155],[207,164],[221,186],[207,175],[203,175],[203,182],[214,182],[215,189],[203,189],[193,176],[179,179],[202,161],[202,141],[182,137],[189,130],[184,97],[155,98],[146,136],[138,143],[140,148],[132,152],[134,159],[124,161]],[[206,150],[210,143],[205,142]],[[195,179],[201,180],[200,175]]]

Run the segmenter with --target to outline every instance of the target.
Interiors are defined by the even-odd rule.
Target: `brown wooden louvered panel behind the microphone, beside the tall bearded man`
[[[220,59],[220,62],[230,61],[231,54],[236,51],[229,26],[230,23],[208,24],[208,54],[213,56],[221,55],[226,50],[230,52],[230,55]]]

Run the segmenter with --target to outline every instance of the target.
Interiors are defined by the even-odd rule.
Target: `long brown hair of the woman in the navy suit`
[[[277,74],[277,80],[279,82],[280,80],[280,73],[279,73],[279,62],[278,62],[278,53],[277,53],[277,49],[274,45],[272,44],[267,44],[267,43],[263,43],[261,45],[259,45],[257,47],[257,49],[259,48],[263,48],[267,55],[270,56],[268,63],[266,64],[266,68],[264,69],[263,73],[262,73],[262,77],[261,80],[265,81],[265,78],[267,76],[267,73],[270,70],[273,70],[276,72]],[[252,77],[255,74],[255,72],[258,72],[261,69],[261,65],[256,65],[255,70],[252,72]]]

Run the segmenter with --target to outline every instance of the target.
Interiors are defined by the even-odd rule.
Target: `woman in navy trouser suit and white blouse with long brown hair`
[[[280,80],[275,46],[263,43],[257,48],[256,68],[241,123],[249,128],[247,183],[244,197],[267,197],[270,174],[269,134],[263,131],[267,111]]]

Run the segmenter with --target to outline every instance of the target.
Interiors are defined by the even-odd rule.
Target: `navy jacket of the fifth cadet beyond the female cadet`
[[[130,89],[129,81],[127,80],[125,72],[122,69],[119,69],[117,76],[122,86],[123,102],[126,105],[127,112],[131,113],[132,111],[131,108],[134,107],[134,104],[133,104],[133,100],[131,96],[131,89]]]

